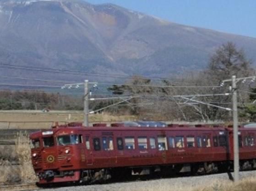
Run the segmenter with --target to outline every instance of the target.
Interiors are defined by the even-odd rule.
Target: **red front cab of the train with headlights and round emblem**
[[[31,157],[38,184],[80,180],[82,135],[62,129],[34,133]]]

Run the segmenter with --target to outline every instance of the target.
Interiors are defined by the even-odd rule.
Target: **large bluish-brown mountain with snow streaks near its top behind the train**
[[[13,65],[87,74],[169,76],[206,67],[214,49],[227,41],[256,60],[256,38],[184,26],[117,5],[0,0],[0,64],[5,66],[1,76],[76,79],[75,75],[10,68]]]

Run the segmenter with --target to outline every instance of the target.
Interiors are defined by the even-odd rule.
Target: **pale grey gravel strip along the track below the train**
[[[256,177],[256,171],[240,172],[240,179],[253,176]],[[101,185],[70,186],[45,189],[45,191],[192,191],[200,187],[218,186],[225,181],[227,183],[231,182],[227,173]]]

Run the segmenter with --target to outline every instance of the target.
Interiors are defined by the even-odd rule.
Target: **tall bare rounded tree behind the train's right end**
[[[251,60],[246,58],[245,52],[243,49],[238,49],[234,43],[227,42],[213,53],[212,57],[209,60],[208,68],[206,71],[207,81],[218,81],[219,83],[224,79],[229,79],[232,75],[236,77],[246,77],[251,75],[253,72],[251,68]],[[227,84],[230,85],[230,84]],[[238,88],[246,88],[245,86]],[[223,89],[214,89],[212,93],[223,93]],[[241,99],[247,98],[246,95],[239,96]],[[225,107],[231,107],[229,103],[231,97],[216,97],[212,101],[217,105],[221,106],[225,103]],[[209,116],[211,119],[228,119],[230,116],[227,112],[219,108],[210,108],[208,109]]]

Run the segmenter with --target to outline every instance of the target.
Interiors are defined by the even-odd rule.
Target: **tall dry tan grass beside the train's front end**
[[[27,134],[18,134],[16,145],[1,146],[0,157],[0,183],[14,184],[37,181],[30,159],[30,147]],[[20,165],[11,165],[11,161],[17,160]]]

